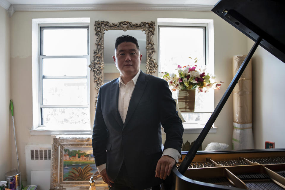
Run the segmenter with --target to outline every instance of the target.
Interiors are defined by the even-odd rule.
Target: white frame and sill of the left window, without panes
[[[33,67],[33,127],[30,129],[31,135],[47,135],[47,134],[91,134],[91,118],[90,118],[90,18],[58,18],[58,19],[32,19],[33,35],[32,35],[32,67]],[[42,31],[43,29],[52,28],[84,28],[87,29],[87,55],[82,56],[45,56],[42,53]],[[87,75],[87,104],[86,105],[43,105],[42,101],[42,80],[43,80],[43,59],[44,58],[86,58]],[[82,76],[83,77],[83,76]],[[75,78],[82,78],[75,77]],[[50,77],[49,77],[50,78]],[[58,77],[55,77],[58,78]],[[74,78],[74,77],[62,77]],[[60,127],[60,125],[45,126],[42,125],[42,108],[88,108],[89,123],[85,125],[71,126],[69,129]],[[79,130],[80,129],[80,130]]]

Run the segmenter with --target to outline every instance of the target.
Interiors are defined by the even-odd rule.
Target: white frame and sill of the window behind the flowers
[[[158,62],[160,63],[160,28],[181,27],[181,28],[203,28],[203,46],[204,46],[204,62],[207,66],[207,71],[214,75],[214,37],[213,37],[213,20],[212,19],[181,19],[181,18],[158,18]],[[159,64],[159,77],[162,76]],[[214,97],[213,97],[214,98]],[[214,106],[214,105],[213,105]],[[213,113],[211,112],[183,112],[183,113]],[[202,124],[183,123],[184,132],[200,133]],[[186,129],[186,131],[185,131]],[[210,132],[216,132],[216,129]]]

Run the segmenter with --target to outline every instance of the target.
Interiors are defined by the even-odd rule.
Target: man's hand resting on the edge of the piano
[[[160,179],[166,179],[166,177],[170,175],[174,164],[175,159],[173,159],[171,156],[162,156],[156,164],[155,177]]]

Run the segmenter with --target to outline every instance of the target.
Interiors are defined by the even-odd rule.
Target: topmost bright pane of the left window
[[[87,29],[43,29],[43,55],[87,55]]]

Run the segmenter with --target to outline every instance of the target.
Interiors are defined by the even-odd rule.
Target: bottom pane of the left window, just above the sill
[[[89,108],[42,108],[43,125],[89,124]]]

